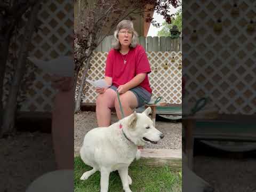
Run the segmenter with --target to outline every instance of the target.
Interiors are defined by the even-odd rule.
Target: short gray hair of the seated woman
[[[130,20],[123,20],[123,21],[119,22],[118,25],[116,26],[116,30],[114,32],[114,40],[112,43],[113,48],[115,50],[121,49],[121,44],[118,40],[118,32],[121,29],[128,29],[128,30],[132,31],[132,43],[131,43],[130,47],[131,48],[136,47],[136,45],[138,44],[138,33],[133,28],[133,22]]]

